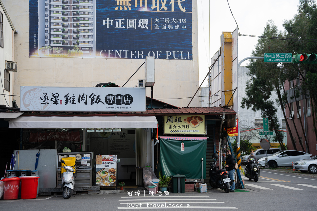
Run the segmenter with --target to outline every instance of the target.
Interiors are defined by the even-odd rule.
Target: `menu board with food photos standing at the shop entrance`
[[[117,186],[117,156],[97,155],[96,163],[96,186],[116,187]]]

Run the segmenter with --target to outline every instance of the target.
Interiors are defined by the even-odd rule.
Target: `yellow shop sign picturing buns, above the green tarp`
[[[164,135],[206,134],[205,115],[170,115],[163,121]]]

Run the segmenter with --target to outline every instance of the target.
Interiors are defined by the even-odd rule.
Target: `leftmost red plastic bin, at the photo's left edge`
[[[19,195],[20,178],[10,177],[10,178],[4,178],[1,181],[4,182],[3,199],[4,200],[17,199]]]

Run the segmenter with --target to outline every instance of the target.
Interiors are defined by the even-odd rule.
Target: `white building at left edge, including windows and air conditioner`
[[[0,104],[12,107],[14,86],[13,75],[17,71],[14,62],[14,33],[16,32],[11,19],[0,0]]]

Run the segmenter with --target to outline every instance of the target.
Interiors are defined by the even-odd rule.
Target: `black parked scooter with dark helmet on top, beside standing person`
[[[226,193],[230,192],[230,185],[232,185],[233,181],[228,178],[228,170],[227,169],[218,169],[217,168],[217,159],[218,154],[214,153],[212,155],[214,158],[214,162],[208,164],[210,165],[209,169],[209,184],[212,188],[220,188],[226,191]]]

